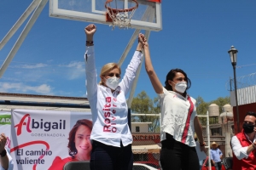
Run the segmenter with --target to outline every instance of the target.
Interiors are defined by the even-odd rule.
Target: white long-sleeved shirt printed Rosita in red
[[[132,143],[125,95],[128,94],[136,77],[142,57],[142,53],[134,53],[123,79],[112,94],[110,88],[98,84],[94,47],[86,47],[84,62],[87,99],[90,102],[93,122],[90,139],[116,147],[120,147],[120,140],[124,146]]]

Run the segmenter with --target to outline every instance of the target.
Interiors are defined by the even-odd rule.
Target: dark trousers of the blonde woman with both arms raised
[[[115,147],[93,140],[90,154],[90,170],[131,170],[133,154],[131,144]]]

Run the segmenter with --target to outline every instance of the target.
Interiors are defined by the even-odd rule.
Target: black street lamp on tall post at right
[[[240,132],[239,127],[239,112],[238,112],[238,104],[237,104],[237,88],[236,88],[236,54],[238,53],[237,49],[234,46],[231,46],[230,50],[228,51],[230,54],[231,64],[233,66],[234,71],[234,84],[235,84],[235,96],[236,96],[236,116],[237,116],[237,132]]]

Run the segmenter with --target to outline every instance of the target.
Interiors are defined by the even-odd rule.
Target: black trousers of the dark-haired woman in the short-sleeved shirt
[[[166,140],[161,141],[160,164],[163,170],[198,170],[199,160],[195,147],[177,142],[166,133]]]

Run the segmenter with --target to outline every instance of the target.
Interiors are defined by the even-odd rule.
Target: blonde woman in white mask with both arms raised
[[[128,126],[128,107],[125,95],[131,89],[143,54],[142,34],[125,75],[121,79],[119,65],[108,63],[102,67],[101,82],[97,84],[93,36],[96,26],[86,26],[84,54],[87,99],[90,102],[93,127],[90,135],[92,151],[91,170],[131,170],[133,156],[132,136]]]

